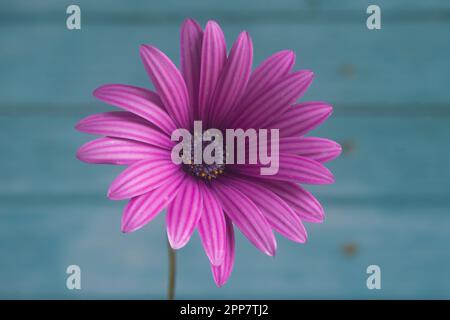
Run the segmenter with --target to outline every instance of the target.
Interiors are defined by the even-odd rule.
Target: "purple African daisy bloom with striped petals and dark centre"
[[[125,165],[108,191],[112,200],[129,199],[122,231],[133,232],[167,207],[167,234],[180,249],[197,229],[222,286],[234,264],[234,227],[269,256],[276,251],[274,232],[306,241],[303,222],[321,222],[320,203],[299,184],[330,184],[323,165],[340,146],[304,137],[331,114],[323,102],[296,101],[313,73],[293,71],[292,51],[275,53],[253,72],[250,36],[242,32],[229,54],[219,25],[204,30],[192,19],[181,28],[181,67],[157,48],[140,47],[155,91],[109,84],[94,91],[98,99],[124,111],[81,120],[79,131],[103,137],[88,142],[77,157],[88,163]],[[192,131],[194,120],[205,128],[279,129],[279,170],[261,175],[260,164],[175,164],[171,134]]]

